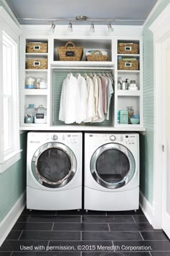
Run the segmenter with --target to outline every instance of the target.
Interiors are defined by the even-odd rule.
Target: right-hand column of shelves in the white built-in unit
[[[141,38],[117,38],[116,49],[118,49],[118,43],[137,43],[138,44],[138,54],[120,54],[118,51],[117,61],[115,63],[115,127],[117,129],[138,129],[143,128],[143,64],[142,64],[142,40]],[[138,60],[138,70],[123,70],[118,69],[118,59],[122,58],[135,58]],[[135,80],[138,90],[120,90],[117,88],[118,80],[125,81],[128,79]],[[134,114],[140,116],[139,124],[119,124],[117,121],[117,111],[126,111],[128,106],[133,106]]]

